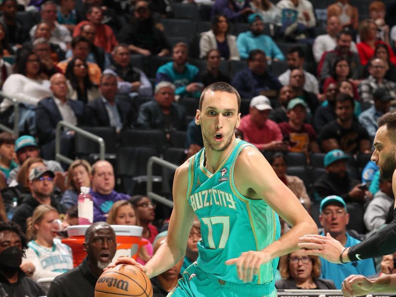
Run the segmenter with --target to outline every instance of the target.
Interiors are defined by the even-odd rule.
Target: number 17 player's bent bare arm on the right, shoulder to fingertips
[[[306,212],[293,192],[277,177],[274,170],[255,148],[244,148],[234,170],[234,182],[238,191],[249,198],[262,198],[292,227],[279,240],[259,251],[247,251],[239,258],[226,261],[236,264],[241,280],[251,281],[261,264],[298,249],[298,239],[316,233],[315,222]]]

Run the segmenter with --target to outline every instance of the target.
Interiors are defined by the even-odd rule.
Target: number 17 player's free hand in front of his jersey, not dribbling
[[[270,257],[263,251],[250,250],[243,252],[240,257],[229,259],[226,265],[237,264],[238,277],[243,282],[251,282],[253,275],[258,275],[261,264],[267,263]]]

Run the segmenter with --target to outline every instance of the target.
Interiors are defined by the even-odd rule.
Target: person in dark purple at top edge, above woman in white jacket
[[[231,22],[241,22],[246,20],[247,15],[252,12],[250,3],[246,0],[215,0],[212,5],[211,19],[221,14]]]

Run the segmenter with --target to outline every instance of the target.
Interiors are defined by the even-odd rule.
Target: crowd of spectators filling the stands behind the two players
[[[172,159],[180,165],[203,147],[195,113],[203,89],[218,81],[242,98],[237,137],[263,152],[323,234],[348,247],[387,224],[392,185],[379,180],[369,156],[377,119],[396,106],[396,22],[389,17],[396,1],[364,0],[367,11],[349,0],[326,9],[318,2],[1,1],[0,88],[18,114],[2,99],[0,121],[11,128],[17,117],[20,137],[0,133],[0,257],[12,247],[26,257],[0,265],[0,293],[43,296],[34,281],[56,277],[49,296],[93,296],[115,253],[108,224],[143,227],[142,264],[164,242],[169,210],[137,195],[136,180],[126,182],[131,188],[120,182],[114,156],[83,159],[75,131],[64,127],[60,152],[73,162],[55,161],[58,122],[109,128],[118,139],[125,131],[143,131],[142,138],[161,131],[166,143],[157,155],[165,159],[180,132],[181,157]],[[186,19],[172,3],[197,15]],[[187,28],[193,31],[183,35]],[[87,258],[72,269],[69,247],[51,228],[58,220],[78,223],[81,187],[91,188],[97,223],[87,231]],[[166,296],[197,259],[199,228],[196,221],[184,261],[152,279],[154,296]],[[97,237],[109,242],[105,256]],[[393,272],[390,256],[380,261],[377,270],[373,259],[340,268],[297,250],[281,258],[276,286],[339,289],[350,274]],[[69,288],[76,279],[85,295]]]

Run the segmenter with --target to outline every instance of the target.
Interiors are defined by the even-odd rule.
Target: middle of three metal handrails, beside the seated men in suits
[[[60,136],[61,136],[61,128],[62,127],[66,127],[71,131],[75,131],[76,133],[81,134],[82,136],[84,136],[88,139],[91,139],[92,141],[97,142],[99,144],[99,159],[104,160],[104,153],[106,150],[106,145],[104,143],[103,138],[101,138],[98,135],[95,135],[91,132],[88,132],[84,129],[81,129],[77,126],[69,124],[65,121],[59,121],[56,124],[56,130],[55,130],[55,160],[56,161],[62,161],[68,165],[70,165],[73,162],[72,159],[70,159],[60,153]]]

